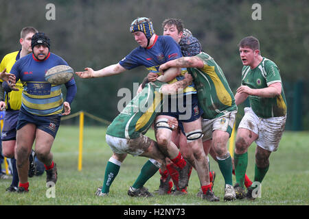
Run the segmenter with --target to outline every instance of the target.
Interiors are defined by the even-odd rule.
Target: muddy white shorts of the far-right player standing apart
[[[286,125],[286,116],[260,118],[251,107],[244,108],[238,128],[249,129],[258,135],[255,143],[267,151],[277,151]]]

